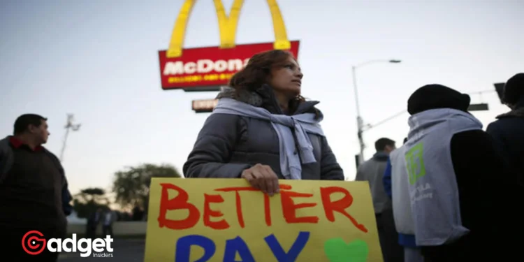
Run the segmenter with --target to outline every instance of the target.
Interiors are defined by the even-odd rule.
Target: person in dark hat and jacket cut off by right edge
[[[524,73],[509,78],[504,85],[502,100],[511,111],[497,116],[486,130],[500,146],[511,168],[524,180]]]

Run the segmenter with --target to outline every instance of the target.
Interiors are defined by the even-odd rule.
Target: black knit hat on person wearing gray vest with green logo
[[[470,96],[444,85],[425,85],[409,96],[407,112],[409,115],[436,108],[452,108],[467,112],[470,107]]]

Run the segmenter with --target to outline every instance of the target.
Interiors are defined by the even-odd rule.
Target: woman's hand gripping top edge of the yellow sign
[[[280,191],[278,176],[270,166],[257,163],[252,168],[242,171],[242,178],[245,178],[252,187],[260,189],[270,196]]]

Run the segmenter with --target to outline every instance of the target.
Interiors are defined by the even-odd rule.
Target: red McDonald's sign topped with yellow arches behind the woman
[[[289,41],[276,0],[266,0],[271,12],[274,43],[235,45],[236,29],[243,0],[234,0],[226,15],[221,0],[213,0],[217,10],[220,45],[208,48],[183,48],[187,20],[196,0],[186,0],[173,28],[168,50],[159,51],[162,89],[217,91],[227,85],[254,54],[267,50],[289,50],[298,57],[299,41]]]

